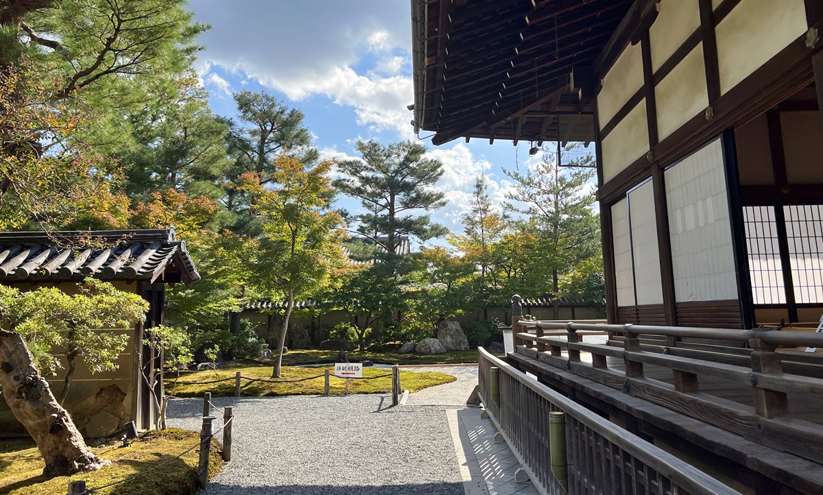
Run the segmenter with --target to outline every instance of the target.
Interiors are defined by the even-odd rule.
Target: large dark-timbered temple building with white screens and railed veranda
[[[514,322],[481,354],[536,485],[559,408],[570,493],[823,493],[821,29],[823,0],[412,0],[416,132],[595,150],[612,345]]]

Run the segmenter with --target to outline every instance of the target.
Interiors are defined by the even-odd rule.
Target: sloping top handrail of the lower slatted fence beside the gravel
[[[739,495],[739,492],[728,487],[728,485],[720,483],[717,479],[709,476],[709,474],[697,470],[694,466],[672,456],[672,454],[663,451],[658,446],[645,442],[642,438],[616,426],[616,424],[611,423],[607,419],[603,419],[584,406],[551,390],[548,386],[529,378],[525,373],[518,371],[518,369],[509,365],[509,363],[489,354],[486,349],[480,348],[479,351],[481,368],[485,369],[485,366],[483,366],[484,360],[492,366],[500,368],[500,372],[506,373],[509,377],[527,386],[553,407],[560,409],[568,416],[582,423],[586,428],[591,429],[592,432],[596,433],[599,437],[607,440],[607,442],[611,442],[614,446],[625,451],[663,477],[670,479],[673,484],[685,489],[687,492],[693,493],[694,495]],[[481,373],[481,375],[482,374],[483,373]],[[481,389],[482,388],[484,387],[481,384]],[[488,400],[487,397],[483,397],[483,399]],[[501,397],[501,400],[505,400],[505,398]],[[490,410],[497,413],[499,409],[492,407]],[[546,421],[547,420],[546,418]],[[589,481],[592,482],[593,480]]]

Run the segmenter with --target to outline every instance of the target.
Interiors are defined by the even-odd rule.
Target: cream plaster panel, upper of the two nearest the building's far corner
[[[639,43],[630,44],[623,50],[603,77],[602,86],[597,95],[597,118],[601,129],[643,86],[643,56]]]

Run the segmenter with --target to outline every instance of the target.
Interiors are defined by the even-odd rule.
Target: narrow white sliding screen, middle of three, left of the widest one
[[[637,304],[662,304],[658,224],[654,213],[652,181],[629,192],[629,224],[635,262]]]

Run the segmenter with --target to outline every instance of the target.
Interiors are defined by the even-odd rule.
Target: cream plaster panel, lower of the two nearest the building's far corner
[[[649,120],[643,99],[602,141],[603,182],[607,183],[647,151]]]

